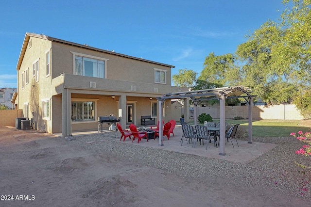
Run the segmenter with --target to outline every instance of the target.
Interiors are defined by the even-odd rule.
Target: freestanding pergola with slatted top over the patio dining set
[[[159,128],[162,128],[163,120],[163,103],[166,99],[182,99],[190,98],[194,104],[194,125],[197,125],[197,106],[199,101],[218,99],[220,101],[220,153],[219,155],[225,155],[225,99],[226,98],[244,98],[248,102],[248,143],[253,142],[253,91],[250,88],[244,86],[231,86],[223,88],[213,88],[198,91],[186,91],[178,93],[169,93],[161,97],[156,97],[158,101],[159,112]],[[163,146],[163,131],[159,130],[159,145]]]

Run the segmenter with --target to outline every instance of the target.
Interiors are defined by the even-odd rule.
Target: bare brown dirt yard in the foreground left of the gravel
[[[310,206],[262,186],[193,180],[64,138],[0,127],[1,207]]]

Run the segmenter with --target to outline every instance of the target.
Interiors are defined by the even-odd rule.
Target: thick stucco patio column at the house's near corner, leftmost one
[[[71,136],[71,93],[64,89],[62,93],[62,135]]]

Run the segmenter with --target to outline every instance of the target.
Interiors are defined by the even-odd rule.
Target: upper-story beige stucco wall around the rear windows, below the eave
[[[53,69],[55,72],[53,77],[58,76],[60,73],[73,74],[72,52],[108,59],[106,67],[107,79],[155,83],[154,68],[156,68],[167,71],[165,85],[171,85],[170,67],[92,51],[85,48],[68,46],[56,42],[52,43],[52,57],[54,60],[57,60],[57,62],[53,63]]]

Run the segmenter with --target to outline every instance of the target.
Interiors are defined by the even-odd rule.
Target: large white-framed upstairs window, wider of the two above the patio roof
[[[80,76],[90,76],[97,78],[106,78],[106,58],[86,55],[76,52],[73,54],[73,74]]]

